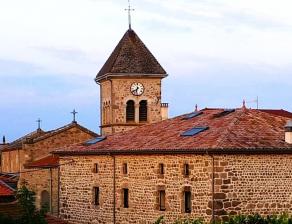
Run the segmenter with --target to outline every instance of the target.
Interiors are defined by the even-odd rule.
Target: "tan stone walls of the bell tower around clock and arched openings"
[[[140,82],[144,86],[141,96],[134,96],[130,87]],[[113,78],[101,82],[102,134],[107,135],[135,128],[139,123],[139,102],[147,100],[148,122],[161,121],[161,78]],[[135,102],[136,119],[126,124],[126,103]],[[109,127],[110,126],[110,127]]]

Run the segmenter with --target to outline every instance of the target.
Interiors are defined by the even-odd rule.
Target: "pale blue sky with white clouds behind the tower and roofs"
[[[133,29],[169,77],[170,115],[204,107],[292,111],[290,0],[133,0]],[[0,2],[0,136],[72,120],[99,131],[94,77],[127,30],[127,0]],[[248,107],[255,107],[249,103]]]

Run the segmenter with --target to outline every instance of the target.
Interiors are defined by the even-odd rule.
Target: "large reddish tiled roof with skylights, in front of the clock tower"
[[[204,109],[202,114],[184,119],[185,115],[131,131],[108,136],[94,145],[79,145],[55,152],[57,154],[102,153],[175,153],[206,151],[280,152],[292,153],[292,145],[285,143],[284,125],[289,118],[259,110],[236,109],[218,116],[223,109]],[[193,127],[209,127],[195,136],[181,136]]]

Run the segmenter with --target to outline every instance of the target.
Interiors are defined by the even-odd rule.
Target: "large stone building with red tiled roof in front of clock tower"
[[[173,223],[291,213],[289,120],[245,107],[203,109],[59,150],[61,217]]]

